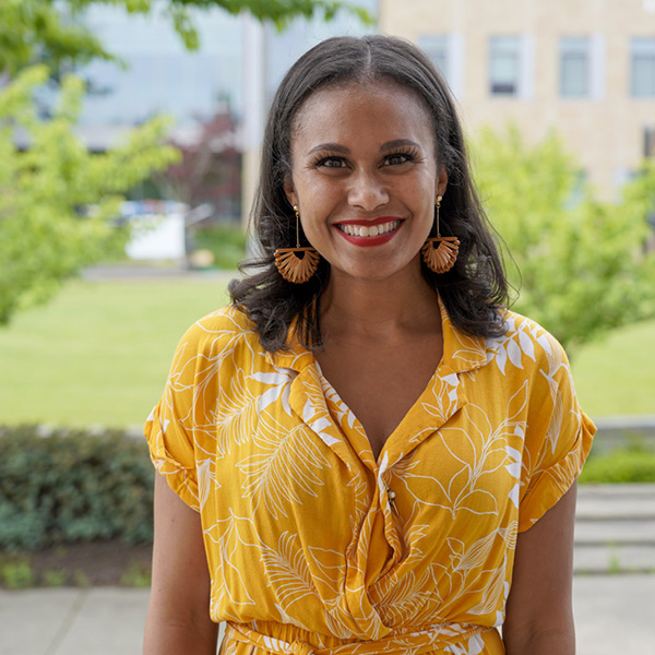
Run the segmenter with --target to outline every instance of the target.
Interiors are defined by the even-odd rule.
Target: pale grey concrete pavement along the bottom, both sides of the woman
[[[0,655],[138,655],[147,590],[0,593]],[[655,574],[574,579],[577,655],[655,653]],[[180,654],[192,655],[192,654]]]

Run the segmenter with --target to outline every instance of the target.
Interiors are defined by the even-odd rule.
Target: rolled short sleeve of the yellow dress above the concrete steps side
[[[596,427],[581,409],[563,348],[552,337],[534,380],[525,433],[519,531],[534,525],[571,488]]]

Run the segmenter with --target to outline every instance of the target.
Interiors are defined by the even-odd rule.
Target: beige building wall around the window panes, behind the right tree
[[[655,94],[635,98],[630,88],[630,39],[655,39],[654,0],[380,0],[379,27],[419,45],[450,35],[457,70],[449,80],[467,132],[514,121],[536,141],[555,128],[604,195],[638,168],[644,129],[655,130]],[[511,97],[489,92],[489,38],[504,35],[524,44],[523,88]],[[587,97],[560,93],[560,38],[568,36],[593,44]]]

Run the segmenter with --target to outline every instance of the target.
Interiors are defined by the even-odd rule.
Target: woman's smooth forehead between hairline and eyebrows
[[[300,106],[291,124],[293,151],[312,142],[385,143],[398,139],[412,139],[426,147],[436,142],[425,99],[393,82],[319,88]]]

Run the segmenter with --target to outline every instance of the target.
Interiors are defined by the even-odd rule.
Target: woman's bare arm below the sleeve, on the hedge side
[[[217,626],[210,619],[210,588],[200,514],[156,474],[153,581],[144,652],[215,653]],[[178,639],[184,643],[182,651],[176,651]]]

